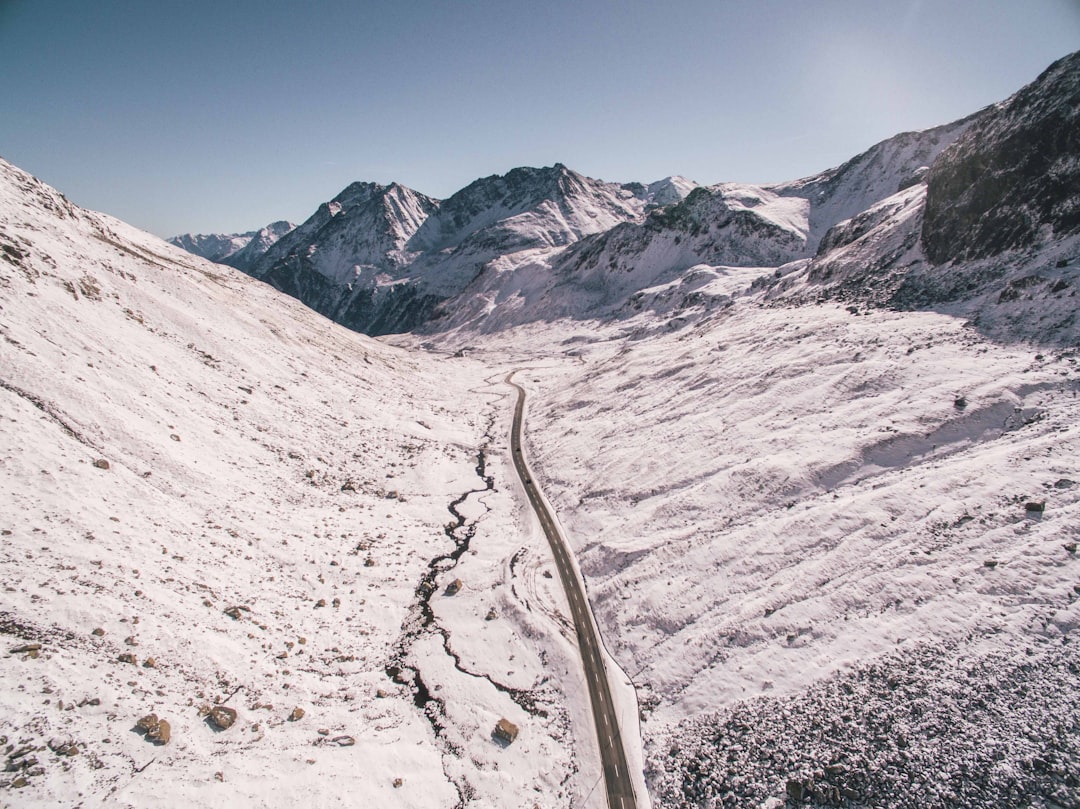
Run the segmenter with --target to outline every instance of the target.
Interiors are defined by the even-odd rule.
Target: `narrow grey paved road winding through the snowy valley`
[[[522,455],[522,431],[525,421],[525,390],[512,381],[513,373],[507,376],[507,385],[517,390],[517,405],[514,407],[514,423],[510,431],[510,451],[514,457],[514,468],[525,486],[532,510],[540,518],[543,532],[548,536],[551,551],[555,556],[555,567],[563,580],[566,597],[570,602],[570,617],[578,632],[578,646],[581,649],[581,661],[585,669],[585,680],[589,683],[589,700],[593,706],[593,719],[596,722],[596,738],[599,741],[600,761],[604,765],[604,783],[607,786],[608,806],[610,809],[636,809],[634,786],[626,767],[626,752],[622,746],[622,736],[611,700],[611,689],[608,686],[607,671],[604,658],[600,656],[599,639],[593,625],[589,604],[585,601],[584,588],[578,579],[573,565],[570,563],[570,552],[566,540],[559,534],[551,512],[544,504],[532,473]]]

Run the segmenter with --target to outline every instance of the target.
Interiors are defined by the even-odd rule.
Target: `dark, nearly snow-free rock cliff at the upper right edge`
[[[989,108],[927,177],[922,243],[936,265],[1080,231],[1080,52]]]

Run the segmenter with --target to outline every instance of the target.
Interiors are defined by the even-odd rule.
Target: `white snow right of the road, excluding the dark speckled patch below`
[[[653,318],[469,337],[534,358],[537,475],[636,685],[651,786],[680,783],[664,760],[704,732],[687,723],[897,651],[1034,644],[1075,665],[1072,352],[746,294],[692,326]]]

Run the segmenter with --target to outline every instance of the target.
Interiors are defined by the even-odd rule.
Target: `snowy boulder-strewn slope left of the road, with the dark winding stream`
[[[589,805],[567,607],[486,368],[350,333],[6,163],[0,336],[14,805]],[[167,744],[136,732],[151,712]]]

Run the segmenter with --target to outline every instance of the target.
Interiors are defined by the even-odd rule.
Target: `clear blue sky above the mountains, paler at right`
[[[1078,0],[0,0],[0,156],[159,235],[356,179],[767,183],[1078,49]]]

